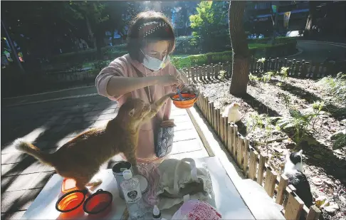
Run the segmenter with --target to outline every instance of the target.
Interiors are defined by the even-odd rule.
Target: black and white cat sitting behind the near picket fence
[[[313,194],[311,194],[310,184],[303,173],[303,150],[299,152],[291,152],[286,155],[286,163],[283,174],[288,177],[288,184],[293,185],[297,191],[295,192],[305,203],[305,206],[313,204]]]

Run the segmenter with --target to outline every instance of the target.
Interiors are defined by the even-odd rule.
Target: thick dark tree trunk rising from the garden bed
[[[246,1],[229,3],[229,35],[233,49],[232,77],[229,93],[236,96],[246,94],[250,53],[243,28],[243,13]]]

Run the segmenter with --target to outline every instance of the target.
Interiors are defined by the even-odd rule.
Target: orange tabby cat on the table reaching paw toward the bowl
[[[138,98],[129,99],[105,128],[83,132],[53,154],[42,152],[22,139],[16,140],[14,146],[54,167],[62,177],[75,179],[79,189],[85,189],[101,164],[120,152],[138,173],[136,150],[140,125],[154,117],[172,95],[175,93],[164,95],[152,105]]]

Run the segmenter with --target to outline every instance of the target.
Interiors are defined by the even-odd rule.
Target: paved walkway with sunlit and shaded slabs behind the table
[[[11,142],[25,137],[42,150],[54,152],[83,130],[105,125],[116,113],[116,103],[99,95],[1,109],[1,219],[20,219],[55,173],[17,152]],[[187,111],[174,108],[172,118],[177,127],[170,157],[208,157]],[[112,158],[103,169],[117,159]]]

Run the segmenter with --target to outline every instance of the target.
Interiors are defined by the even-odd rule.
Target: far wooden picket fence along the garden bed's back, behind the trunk
[[[296,78],[323,78],[327,75],[335,76],[339,72],[346,72],[346,62],[305,62],[281,60],[279,58],[266,58],[260,62],[256,58],[251,58],[250,73],[253,75],[266,73],[268,71],[280,71],[282,67],[288,67],[288,75]],[[180,70],[183,75],[192,82],[208,82],[215,79],[231,78],[232,63],[210,63],[208,65],[193,66]],[[222,72],[224,71],[224,73]]]

